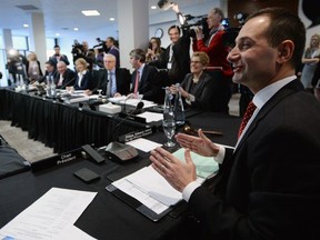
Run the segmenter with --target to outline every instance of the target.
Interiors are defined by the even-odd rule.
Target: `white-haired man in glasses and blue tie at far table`
[[[130,91],[131,74],[128,69],[117,68],[117,59],[113,54],[107,53],[103,57],[104,69],[99,71],[99,80],[97,87],[87,94],[92,94],[98,89],[102,90],[102,94],[109,97],[120,97],[128,94]]]

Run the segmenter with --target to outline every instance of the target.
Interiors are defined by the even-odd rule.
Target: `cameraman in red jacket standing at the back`
[[[210,29],[207,39],[203,39],[203,31],[201,28],[196,29],[196,38],[193,38],[193,51],[203,51],[209,58],[208,72],[213,77],[221,79],[224,86],[223,104],[228,108],[231,99],[231,84],[232,84],[232,69],[227,60],[229,48],[224,44],[223,36],[224,28],[221,24],[223,20],[223,12],[219,8],[213,8],[209,11],[207,23]],[[210,70],[210,67],[221,67],[222,70]]]

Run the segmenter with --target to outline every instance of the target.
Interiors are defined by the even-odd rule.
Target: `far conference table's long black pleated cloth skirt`
[[[28,131],[30,139],[43,142],[57,153],[87,143],[101,147],[117,136],[146,128],[146,124],[126,121],[116,129],[121,118],[8,89],[0,89],[0,119],[11,120],[11,126]]]

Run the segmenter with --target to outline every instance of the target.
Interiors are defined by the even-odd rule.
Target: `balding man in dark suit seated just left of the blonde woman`
[[[58,74],[54,78],[57,88],[66,88],[73,86],[76,82],[76,73],[69,69],[64,61],[59,61],[57,63]]]

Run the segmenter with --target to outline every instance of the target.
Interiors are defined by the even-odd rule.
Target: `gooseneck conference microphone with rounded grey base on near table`
[[[137,110],[142,109],[144,106],[144,103],[142,101],[140,101],[136,109],[132,110],[131,112],[129,112],[126,118],[123,118],[113,129],[112,134],[114,136],[114,131],[130,117],[132,117],[134,114],[134,112]],[[117,141],[112,141],[110,142],[107,147],[106,147],[106,156],[107,158],[109,158],[110,160],[116,160],[116,161],[128,161],[128,160],[132,160],[134,158],[137,158],[139,156],[138,151],[136,148],[133,148],[132,146],[129,144],[124,144],[124,143],[120,143]]]

